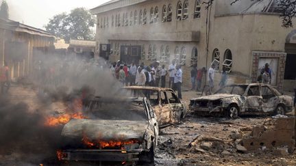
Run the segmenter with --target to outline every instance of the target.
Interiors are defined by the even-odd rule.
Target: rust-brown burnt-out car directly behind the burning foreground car
[[[149,99],[160,128],[180,122],[187,114],[186,103],[177,98],[171,88],[130,86],[123,89],[127,90],[124,94],[132,98]]]

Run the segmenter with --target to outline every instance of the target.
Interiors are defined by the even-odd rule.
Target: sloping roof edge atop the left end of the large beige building
[[[102,12],[107,12],[109,10],[124,8],[129,5],[142,3],[144,1],[149,1],[149,0],[112,0],[112,1],[108,1],[107,3],[103,3],[97,6],[96,8],[91,9],[90,12],[92,14],[99,14]]]

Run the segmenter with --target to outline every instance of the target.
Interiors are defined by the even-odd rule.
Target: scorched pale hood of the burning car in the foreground
[[[62,129],[64,137],[95,140],[142,139],[149,122],[126,120],[71,120]]]

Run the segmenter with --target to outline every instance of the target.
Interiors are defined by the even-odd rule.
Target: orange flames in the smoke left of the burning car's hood
[[[82,113],[63,114],[59,117],[47,117],[45,126],[58,126],[68,123],[71,119],[86,119]]]

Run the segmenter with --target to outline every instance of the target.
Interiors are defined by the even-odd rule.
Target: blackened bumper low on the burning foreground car
[[[62,150],[62,161],[138,161],[143,150],[126,152],[121,150]]]

